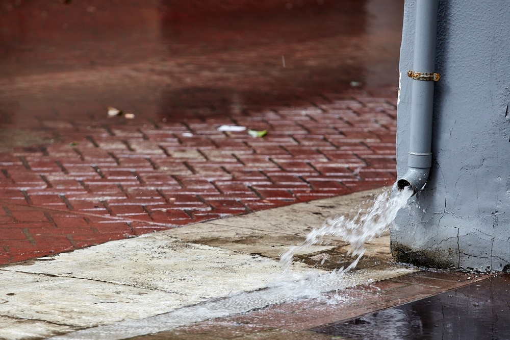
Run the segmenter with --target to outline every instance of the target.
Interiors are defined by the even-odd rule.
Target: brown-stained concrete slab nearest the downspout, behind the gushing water
[[[319,228],[326,218],[342,215],[352,217],[360,209],[368,208],[382,190],[385,189],[366,190],[330,199],[257,211],[186,228],[170,229],[162,233],[189,242],[279,259],[289,246],[301,244],[308,233],[314,228]],[[296,255],[347,246],[340,237],[329,236],[326,240],[330,242],[328,246],[311,246],[297,252]],[[368,245],[367,256],[391,259],[389,232],[368,242]]]

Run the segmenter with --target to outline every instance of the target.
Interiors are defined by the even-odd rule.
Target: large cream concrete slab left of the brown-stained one
[[[197,303],[245,290],[259,289],[282,274],[278,262],[262,256],[182,242],[154,233],[108,242],[56,256],[53,261],[13,265],[21,272],[108,282],[177,294]]]

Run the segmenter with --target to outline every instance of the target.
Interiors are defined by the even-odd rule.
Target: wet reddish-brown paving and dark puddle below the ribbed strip
[[[342,303],[302,300],[132,339],[504,339],[508,304],[498,296],[509,282],[419,271],[326,295]],[[392,304],[402,305],[384,309]],[[368,309],[377,312],[360,315]]]

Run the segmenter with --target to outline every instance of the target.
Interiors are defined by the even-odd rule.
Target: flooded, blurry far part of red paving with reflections
[[[2,122],[299,105],[398,82],[402,1],[0,3]],[[100,118],[103,112],[101,111]]]

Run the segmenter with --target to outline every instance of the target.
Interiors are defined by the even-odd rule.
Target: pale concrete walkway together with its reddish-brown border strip
[[[334,250],[349,258],[350,247],[328,236],[327,245],[303,249],[291,272],[283,273],[279,253],[302,242],[324,216],[355,214],[378,193],[298,203],[4,266],[1,334],[314,338],[360,315],[490,278],[391,263],[388,233],[367,242],[363,269],[331,274],[317,256]],[[303,257],[315,263],[301,263]]]

